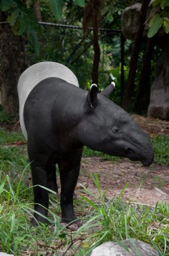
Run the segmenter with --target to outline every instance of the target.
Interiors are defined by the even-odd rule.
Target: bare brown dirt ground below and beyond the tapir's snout
[[[169,135],[168,121],[148,119],[137,115],[133,118],[150,137],[157,134]],[[92,173],[97,173],[101,190],[106,191],[108,198],[117,197],[125,184],[129,183],[123,193],[125,201],[147,205],[156,205],[158,201],[169,203],[169,166],[153,163],[146,168],[139,162],[131,162],[124,158],[118,163],[97,157],[82,158],[77,194],[80,183],[93,193],[97,193],[97,188],[91,178]]]

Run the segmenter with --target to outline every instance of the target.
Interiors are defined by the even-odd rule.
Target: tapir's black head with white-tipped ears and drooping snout
[[[149,166],[154,159],[150,139],[125,110],[109,100],[113,88],[111,83],[98,94],[97,86],[91,86],[80,121],[80,141],[93,150],[139,160]]]

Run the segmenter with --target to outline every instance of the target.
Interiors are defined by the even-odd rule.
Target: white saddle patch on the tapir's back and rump
[[[27,131],[23,119],[23,108],[27,96],[34,89],[34,87],[48,77],[58,77],[64,79],[66,82],[78,86],[78,80],[74,73],[68,67],[50,61],[37,63],[26,69],[19,77],[17,86],[19,96],[19,118],[20,125],[25,139],[27,139]]]

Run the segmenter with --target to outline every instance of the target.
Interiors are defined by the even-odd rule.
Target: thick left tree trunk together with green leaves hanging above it
[[[85,5],[84,0],[74,0],[74,3]],[[64,1],[49,0],[49,4],[58,20]],[[32,43],[36,52],[39,51],[38,33],[42,30],[37,20],[42,21],[38,0],[34,1],[34,8],[27,5],[27,1],[0,1],[0,87],[3,108],[12,116],[18,114],[17,81],[28,65],[24,54],[25,39]]]

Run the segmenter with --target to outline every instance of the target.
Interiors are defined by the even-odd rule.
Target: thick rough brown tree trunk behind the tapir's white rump
[[[5,21],[5,18],[2,14],[0,20]],[[24,42],[21,36],[13,34],[9,24],[0,26],[0,34],[1,104],[5,112],[14,117],[18,115],[19,110],[17,82],[19,75],[27,67]]]

